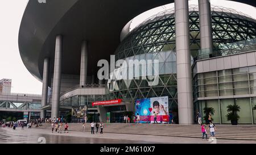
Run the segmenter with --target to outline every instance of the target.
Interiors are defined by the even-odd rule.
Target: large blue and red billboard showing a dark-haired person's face
[[[139,123],[168,123],[168,110],[168,97],[135,100],[135,115],[139,115]]]

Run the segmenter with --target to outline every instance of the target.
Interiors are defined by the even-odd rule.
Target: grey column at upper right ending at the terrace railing
[[[213,51],[212,40],[212,15],[210,13],[210,0],[199,0],[199,21],[200,21],[200,55],[209,58]]]

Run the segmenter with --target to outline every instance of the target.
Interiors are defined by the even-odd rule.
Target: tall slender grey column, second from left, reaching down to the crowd
[[[59,117],[62,40],[62,36],[56,36],[51,118]]]

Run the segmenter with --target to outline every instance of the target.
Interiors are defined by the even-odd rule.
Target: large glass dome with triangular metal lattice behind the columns
[[[198,6],[189,6],[189,28],[191,56],[200,50],[200,24]],[[256,20],[224,7],[212,6],[212,35],[214,51],[236,48],[231,44],[256,37]],[[168,54],[163,56],[163,53]],[[175,53],[175,14],[174,9],[151,16],[131,31],[115,51],[115,59],[163,57],[159,62],[159,84],[149,86],[147,79],[110,80],[109,98],[135,100],[137,98],[169,97],[169,107],[177,106],[176,53]],[[220,53],[221,56],[221,53]],[[174,68],[168,70],[166,68]],[[161,72],[161,70],[163,70]],[[128,84],[127,84],[128,83]]]

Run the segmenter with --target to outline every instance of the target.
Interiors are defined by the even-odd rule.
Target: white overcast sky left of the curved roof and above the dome
[[[0,0],[0,79],[13,79],[12,93],[41,94],[42,83],[28,72],[19,55],[19,26],[27,2],[28,0]],[[197,0],[189,1],[189,3],[197,4]],[[229,7],[256,19],[255,7],[224,0],[211,0],[211,4]],[[139,15],[138,18],[133,20],[131,28],[156,14],[156,12],[172,7],[174,7],[174,4],[158,7]]]

